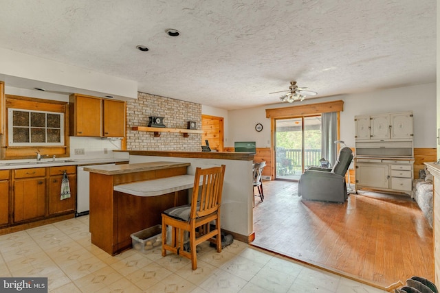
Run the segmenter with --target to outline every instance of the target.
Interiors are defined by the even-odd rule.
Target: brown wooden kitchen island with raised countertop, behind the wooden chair
[[[110,255],[131,248],[132,233],[161,223],[162,211],[188,203],[188,189],[160,196],[115,191],[116,185],[187,174],[190,163],[150,162],[86,167],[90,172],[91,243]]]

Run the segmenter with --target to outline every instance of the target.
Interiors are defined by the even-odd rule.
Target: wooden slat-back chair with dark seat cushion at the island
[[[217,244],[221,253],[220,206],[225,165],[207,169],[196,168],[191,204],[173,207],[162,213],[162,256],[166,250],[191,259],[197,269],[196,246],[206,240]],[[215,221],[215,226],[210,222]],[[171,239],[167,244],[167,227]],[[184,233],[189,233],[189,251],[184,250]]]

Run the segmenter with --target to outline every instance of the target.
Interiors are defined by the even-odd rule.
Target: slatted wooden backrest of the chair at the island
[[[196,168],[190,219],[200,218],[220,209],[224,174],[224,165],[207,169]]]

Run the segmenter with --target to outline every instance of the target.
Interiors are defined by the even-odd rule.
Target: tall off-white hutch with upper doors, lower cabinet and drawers
[[[355,117],[355,191],[411,194],[414,164],[412,112]]]

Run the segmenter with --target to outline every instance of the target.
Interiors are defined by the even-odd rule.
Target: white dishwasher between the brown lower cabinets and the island
[[[111,164],[100,164],[100,165],[86,165],[86,166],[78,166],[76,169],[76,211],[75,217],[79,217],[80,215],[88,215],[90,208],[89,201],[89,191],[90,191],[90,176],[89,172],[84,171],[85,167],[102,167],[116,165],[115,163]]]

